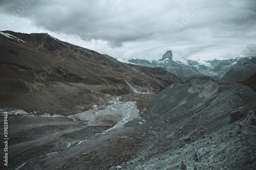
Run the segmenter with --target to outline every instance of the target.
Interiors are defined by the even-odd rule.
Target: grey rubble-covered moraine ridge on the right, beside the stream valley
[[[122,165],[126,169],[255,169],[256,126],[251,121],[255,101],[256,94],[240,84],[175,83],[155,95],[146,111],[151,130],[143,143],[145,151]],[[242,114],[234,112],[238,110]]]

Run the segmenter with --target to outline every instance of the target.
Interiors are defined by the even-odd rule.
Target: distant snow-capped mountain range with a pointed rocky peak
[[[255,57],[244,57],[244,58],[235,58],[235,59],[227,59],[227,60],[208,60],[208,61],[193,61],[184,59],[177,53],[172,53],[172,51],[167,51],[162,59],[156,61],[147,61],[141,59],[122,59],[116,58],[120,62],[124,63],[132,63],[136,65],[143,65],[149,67],[161,67],[165,70],[172,72],[177,77],[183,80],[188,79],[206,79],[206,80],[218,80],[223,82],[231,82],[231,81],[238,81],[241,79],[249,78],[254,72],[256,72],[256,64],[254,64]],[[251,59],[251,60],[250,60]],[[238,65],[237,63],[244,63],[248,62],[246,67],[250,68],[250,70],[242,69],[241,64]],[[230,69],[236,69],[237,67],[243,70],[242,76],[235,76],[232,75],[232,78],[227,78],[225,74],[228,73]],[[245,71],[247,71],[245,73]],[[230,72],[230,71],[229,71]],[[232,72],[232,71],[231,71]],[[236,74],[239,74],[239,71],[234,71]],[[241,75],[241,74],[240,74]],[[244,75],[244,77],[243,77]],[[237,77],[237,79],[235,78]],[[226,80],[224,80],[224,78]]]

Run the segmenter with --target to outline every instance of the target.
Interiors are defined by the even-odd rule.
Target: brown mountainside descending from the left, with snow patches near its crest
[[[179,80],[159,68],[145,75],[48,34],[2,31],[0,40],[2,107],[71,114],[102,103],[106,94],[157,93]]]

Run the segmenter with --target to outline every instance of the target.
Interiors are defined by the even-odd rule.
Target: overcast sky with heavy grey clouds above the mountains
[[[255,0],[0,0],[0,18],[114,58],[256,56]]]

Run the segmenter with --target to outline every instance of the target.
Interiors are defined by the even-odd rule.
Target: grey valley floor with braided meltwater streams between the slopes
[[[73,115],[1,109],[1,113],[8,112],[9,116],[11,137],[8,154],[9,167],[12,167],[10,169],[68,168],[72,164],[66,164],[67,159],[72,162],[81,155],[83,159],[77,169],[88,169],[92,166],[97,167],[96,162],[102,159],[108,162],[113,156],[119,158],[116,151],[117,141],[127,137],[134,140],[135,137],[132,137],[135,128],[124,128],[124,124],[127,122],[131,124],[134,119],[137,120],[134,127],[144,123],[145,120],[139,116],[136,101],[148,97],[150,94],[110,96],[110,101],[106,101],[103,105],[94,105],[87,111]],[[133,140],[131,147],[134,149]],[[95,155],[94,152],[101,154]],[[105,156],[108,158],[104,158]],[[78,160],[80,159],[73,161]],[[84,160],[87,160],[87,163],[84,164]],[[73,169],[73,166],[71,167]]]

